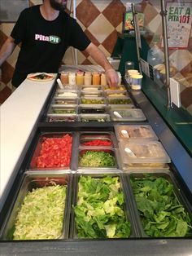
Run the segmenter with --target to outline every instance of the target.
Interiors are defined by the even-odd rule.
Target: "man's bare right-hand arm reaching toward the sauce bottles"
[[[117,86],[119,77],[114,68],[111,67],[111,64],[103,54],[103,51],[100,51],[92,42],[86,47],[85,51],[97,62],[97,64],[105,69],[109,86]]]

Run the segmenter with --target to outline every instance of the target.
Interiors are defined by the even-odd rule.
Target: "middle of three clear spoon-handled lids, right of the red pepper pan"
[[[158,140],[154,130],[151,126],[147,125],[116,125],[116,138],[118,140],[124,139],[149,139]]]

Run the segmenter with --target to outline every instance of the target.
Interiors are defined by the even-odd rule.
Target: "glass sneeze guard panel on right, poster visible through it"
[[[192,155],[192,2],[169,0],[165,1],[165,6],[169,71],[170,77],[180,85],[181,108],[174,104],[173,108],[165,107],[167,88],[161,1],[142,1],[134,5],[135,11],[144,15],[144,29],[139,29],[140,55],[150,64],[148,75],[154,81],[144,79],[142,89]]]

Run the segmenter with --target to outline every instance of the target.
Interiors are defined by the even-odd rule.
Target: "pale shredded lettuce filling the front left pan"
[[[24,197],[15,221],[14,240],[56,239],[63,229],[66,187],[33,189]]]

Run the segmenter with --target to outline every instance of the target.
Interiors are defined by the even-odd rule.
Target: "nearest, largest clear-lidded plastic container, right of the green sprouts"
[[[120,140],[120,159],[125,169],[168,168],[170,157],[159,141]]]

